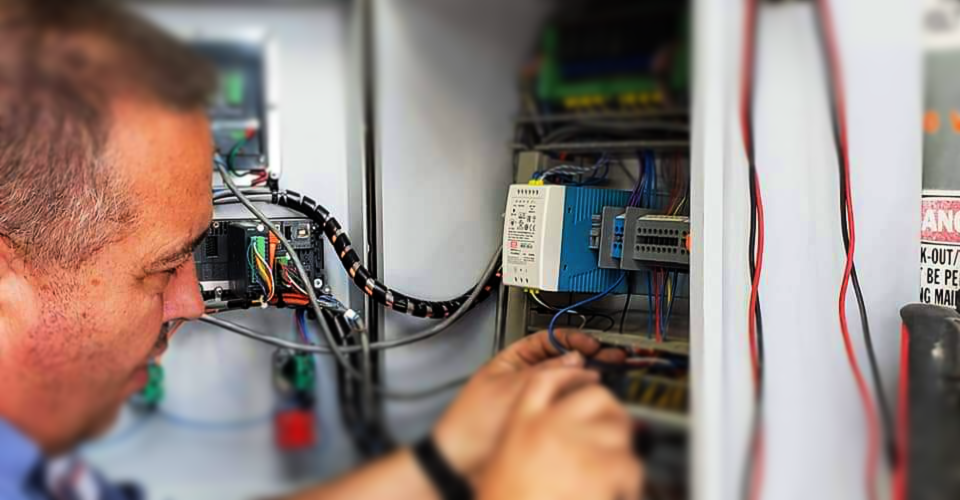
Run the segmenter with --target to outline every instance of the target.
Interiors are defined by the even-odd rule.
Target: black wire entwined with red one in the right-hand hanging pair
[[[820,49],[824,60],[824,74],[827,77],[827,98],[830,104],[830,125],[833,132],[834,150],[837,155],[837,171],[840,174],[840,233],[843,238],[843,249],[850,251],[850,228],[847,220],[847,176],[844,169],[846,159],[844,158],[843,148],[840,139],[840,120],[839,109],[837,105],[836,89],[833,86],[833,65],[830,64],[830,52],[827,49],[826,28],[823,25],[823,6],[816,2],[817,9],[817,35]],[[880,375],[880,367],[877,363],[877,355],[873,348],[873,337],[870,334],[870,321],[867,315],[867,307],[863,299],[863,291],[860,288],[860,278],[857,276],[857,267],[855,263],[850,266],[850,280],[853,284],[853,291],[857,298],[857,310],[860,313],[860,324],[863,328],[863,343],[867,350],[867,359],[870,364],[870,375],[873,379],[874,392],[877,394],[877,406],[880,407],[880,419],[883,427],[883,440],[886,448],[887,460],[891,466],[897,461],[897,447],[894,440],[893,416],[890,414],[890,406],[887,404],[886,392],[883,390],[883,378]]]

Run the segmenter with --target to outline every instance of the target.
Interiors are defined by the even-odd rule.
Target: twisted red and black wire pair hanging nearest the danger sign
[[[857,384],[857,390],[860,393],[860,399],[863,403],[864,413],[867,417],[868,429],[868,449],[867,449],[867,494],[868,498],[876,499],[876,474],[877,465],[880,456],[880,429],[877,419],[877,406],[874,405],[873,397],[870,394],[870,388],[864,378],[863,371],[857,361],[857,355],[854,352],[853,343],[850,338],[850,329],[847,324],[847,290],[853,285],[854,294],[857,299],[857,306],[860,313],[860,322],[863,329],[864,345],[866,347],[869,366],[872,372],[873,382],[876,389],[877,399],[879,401],[880,413],[883,418],[884,435],[886,442],[887,457],[890,464],[896,461],[896,448],[893,439],[892,418],[889,415],[888,406],[885,401],[880,371],[877,366],[876,355],[873,349],[873,341],[870,336],[870,325],[867,318],[867,311],[864,305],[863,292],[860,288],[860,280],[857,278],[857,270],[854,264],[854,251],[856,248],[856,225],[854,223],[853,196],[850,176],[850,152],[847,135],[847,117],[846,102],[843,86],[843,74],[841,72],[839,51],[837,49],[837,37],[834,30],[833,18],[830,7],[826,0],[817,0],[817,29],[819,31],[820,46],[823,51],[823,57],[826,61],[826,75],[828,80],[828,98],[830,104],[830,118],[833,128],[834,146],[837,154],[837,164],[840,175],[840,225],[841,235],[843,237],[843,247],[846,251],[846,264],[843,271],[843,280],[840,284],[840,296],[838,300],[838,312],[840,320],[840,332],[843,337],[843,345],[847,355],[847,361],[850,370],[853,372]]]

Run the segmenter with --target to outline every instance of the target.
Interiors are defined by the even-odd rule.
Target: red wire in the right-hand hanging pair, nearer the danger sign
[[[836,97],[836,106],[837,106],[837,122],[840,127],[840,149],[843,157],[843,175],[846,183],[846,211],[847,211],[847,221],[849,225],[849,236],[850,236],[850,245],[847,248],[847,262],[843,270],[843,281],[840,285],[840,297],[838,300],[838,310],[840,315],[840,332],[843,334],[843,347],[847,354],[847,361],[850,364],[850,370],[853,372],[854,379],[857,383],[857,390],[860,393],[860,399],[863,403],[864,413],[867,417],[867,495],[868,498],[877,498],[876,491],[876,474],[877,474],[877,464],[880,459],[880,438],[879,438],[879,428],[876,415],[876,407],[873,403],[873,397],[870,394],[870,389],[867,386],[867,382],[863,377],[863,372],[860,369],[860,365],[857,362],[857,355],[853,350],[853,343],[850,340],[850,329],[847,325],[847,287],[850,284],[850,273],[853,268],[853,256],[854,250],[856,248],[856,229],[854,224],[854,210],[853,210],[853,190],[851,189],[850,182],[850,152],[847,148],[847,115],[846,115],[846,99],[843,90],[843,76],[841,75],[841,68],[839,63],[839,57],[837,53],[837,43],[836,35],[834,32],[833,18],[830,14],[829,6],[827,5],[826,0],[818,0],[820,2],[820,12],[823,14],[823,25],[827,46],[827,53],[833,73],[833,92]]]

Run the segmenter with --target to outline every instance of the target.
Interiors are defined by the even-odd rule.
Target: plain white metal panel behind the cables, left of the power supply
[[[378,152],[383,278],[428,299],[462,294],[500,245],[512,181],[516,75],[540,2],[378,1]],[[429,387],[471,373],[493,349],[494,302],[427,342],[385,355],[387,383]],[[386,312],[386,336],[430,321]],[[390,402],[400,439],[423,435],[449,397]]]

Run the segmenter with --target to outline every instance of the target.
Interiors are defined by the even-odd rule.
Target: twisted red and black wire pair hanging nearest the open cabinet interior
[[[747,157],[750,191],[750,240],[749,270],[750,299],[747,309],[747,330],[750,344],[751,376],[754,388],[754,410],[750,429],[750,442],[744,467],[744,497],[760,497],[763,484],[763,318],[760,308],[760,274],[763,270],[763,198],[760,191],[760,175],[757,172],[756,145],[754,141],[753,105],[756,80],[757,0],[746,0],[744,12],[742,73],[740,87],[740,127],[743,148]]]

